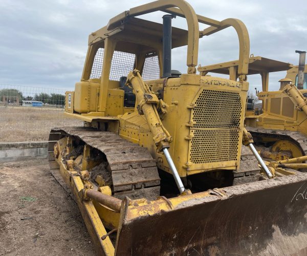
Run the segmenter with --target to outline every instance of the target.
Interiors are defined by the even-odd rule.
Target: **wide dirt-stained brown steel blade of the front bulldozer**
[[[307,175],[122,204],[116,255],[306,255]]]

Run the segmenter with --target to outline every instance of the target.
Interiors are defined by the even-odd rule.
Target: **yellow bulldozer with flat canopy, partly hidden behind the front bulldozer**
[[[291,163],[291,168],[302,169],[298,159],[307,153],[307,73],[305,52],[300,54],[299,66],[290,63],[251,55],[248,75],[260,75],[262,92],[256,92],[262,101],[260,109],[253,108],[253,99],[248,98],[245,116],[247,130],[251,133],[254,144],[260,155],[266,159]],[[238,61],[218,63],[199,67],[201,74],[208,72],[229,74],[230,67],[236,70]],[[269,74],[287,71],[285,78],[280,79],[278,91],[269,91]],[[307,69],[306,69],[307,72]],[[235,74],[236,76],[237,74]],[[235,77],[233,79],[236,79]],[[230,78],[232,79],[232,78]]]

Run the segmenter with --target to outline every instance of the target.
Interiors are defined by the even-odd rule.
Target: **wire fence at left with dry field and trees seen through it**
[[[47,141],[52,127],[83,125],[64,109],[65,90],[0,84],[0,142]]]

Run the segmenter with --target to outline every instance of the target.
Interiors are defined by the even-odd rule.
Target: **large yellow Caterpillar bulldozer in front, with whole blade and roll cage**
[[[156,11],[162,24],[137,18]],[[176,16],[188,30],[172,27]],[[196,74],[200,38],[228,27],[239,39],[238,81]],[[181,46],[184,74],[170,65]],[[245,25],[183,0],[131,8],[89,35],[65,98],[65,114],[84,127],[51,131],[49,163],[98,254],[307,252],[307,176],[255,150],[244,127],[248,70]]]

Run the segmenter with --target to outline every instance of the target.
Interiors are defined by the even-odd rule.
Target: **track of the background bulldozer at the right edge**
[[[280,131],[273,129],[263,129],[263,128],[255,128],[255,127],[246,127],[246,129],[252,134],[253,137],[257,135],[260,136],[270,136],[280,139],[288,139],[296,142],[304,155],[307,155],[307,136],[303,135],[300,132],[292,132],[292,131]]]

